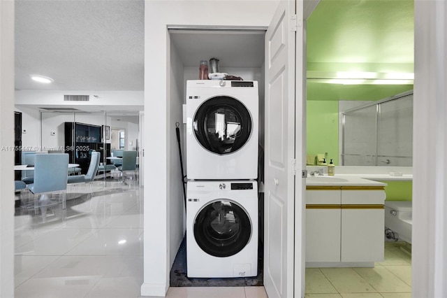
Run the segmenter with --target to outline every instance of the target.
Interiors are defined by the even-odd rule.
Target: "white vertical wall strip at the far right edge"
[[[411,290],[447,297],[447,4],[414,1],[414,15]]]

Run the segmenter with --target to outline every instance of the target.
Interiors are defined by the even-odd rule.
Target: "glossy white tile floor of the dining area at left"
[[[139,297],[142,188],[68,185],[67,208],[15,214],[15,297]]]

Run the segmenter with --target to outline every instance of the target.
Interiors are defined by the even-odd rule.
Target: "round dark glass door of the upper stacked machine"
[[[193,129],[203,148],[224,155],[247,143],[251,116],[244,104],[233,97],[212,97],[197,109]]]

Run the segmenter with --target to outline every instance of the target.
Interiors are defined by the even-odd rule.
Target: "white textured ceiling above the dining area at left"
[[[16,89],[138,91],[143,78],[144,1],[15,1]]]

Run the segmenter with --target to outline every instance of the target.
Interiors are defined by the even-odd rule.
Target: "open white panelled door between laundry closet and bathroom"
[[[264,286],[294,297],[295,1],[280,1],[265,35]],[[297,146],[301,146],[298,140]],[[298,177],[300,180],[300,176]],[[297,296],[300,296],[298,293]]]

